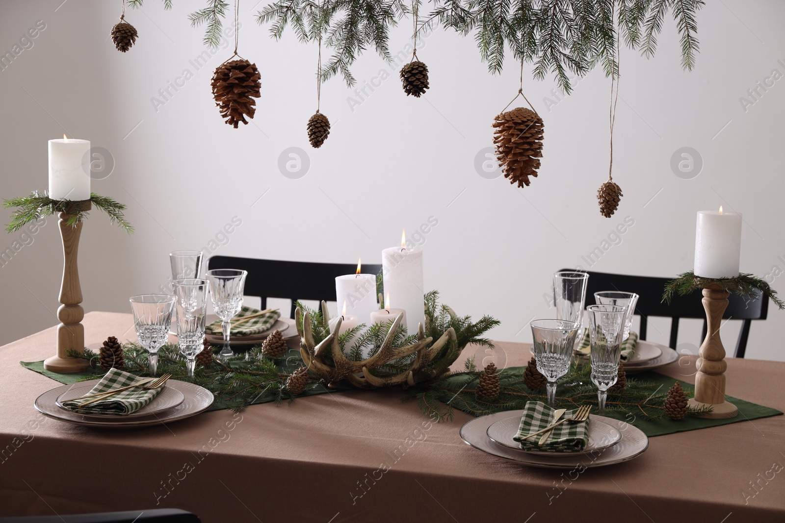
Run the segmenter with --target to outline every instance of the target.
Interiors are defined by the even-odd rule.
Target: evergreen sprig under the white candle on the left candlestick
[[[126,210],[126,205],[100,194],[90,193],[90,199],[86,200],[96,206],[97,209],[106,212],[111,223],[117,224],[123,231],[133,233],[133,227],[125,218],[122,211]],[[27,223],[40,220],[44,216],[52,216],[57,212],[68,213],[66,223],[71,227],[87,219],[88,212],[84,201],[53,200],[44,192],[33,191],[30,196],[3,200],[3,207],[16,210],[11,214],[11,222],[5,226],[6,232],[19,231]]]

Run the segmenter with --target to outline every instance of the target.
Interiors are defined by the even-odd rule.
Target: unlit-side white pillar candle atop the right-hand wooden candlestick
[[[741,215],[734,212],[698,211],[695,234],[696,276],[736,278],[741,254]]]

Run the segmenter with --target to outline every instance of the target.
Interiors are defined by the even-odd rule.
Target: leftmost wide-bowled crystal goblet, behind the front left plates
[[[148,350],[150,374],[158,370],[158,350],[166,343],[172,325],[174,296],[168,294],[140,294],[131,296],[133,328],[141,346]]]

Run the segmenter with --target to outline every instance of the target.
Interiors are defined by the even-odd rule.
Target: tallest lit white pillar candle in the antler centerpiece
[[[395,304],[406,311],[406,329],[417,332],[422,323],[425,328],[425,286],[422,284],[422,250],[406,246],[406,232],[400,247],[382,251],[382,274],[385,293],[395,296]],[[402,324],[404,325],[404,324]]]

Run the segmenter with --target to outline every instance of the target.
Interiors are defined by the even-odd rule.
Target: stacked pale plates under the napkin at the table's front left
[[[136,412],[125,416],[78,414],[63,406],[64,401],[89,394],[100,380],[80,381],[56,387],[35,399],[35,408],[44,416],[86,427],[135,428],[171,423],[196,416],[213,405],[210,390],[193,383],[169,380],[166,387]]]

